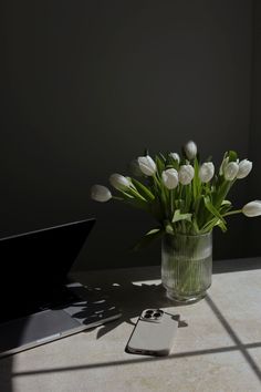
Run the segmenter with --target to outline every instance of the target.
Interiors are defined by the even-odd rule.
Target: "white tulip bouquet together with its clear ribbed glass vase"
[[[228,194],[237,180],[252,169],[249,159],[239,159],[234,151],[225,153],[219,167],[211,159],[201,162],[194,142],[181,154],[145,152],[132,163],[133,176],[112,174],[115,195],[103,185],[94,185],[96,202],[116,199],[150,214],[157,225],[134,249],[157,237],[161,240],[161,281],[167,297],[178,301],[202,298],[211,285],[215,226],[227,230],[227,218],[242,213],[261,215],[261,200],[234,209]]]

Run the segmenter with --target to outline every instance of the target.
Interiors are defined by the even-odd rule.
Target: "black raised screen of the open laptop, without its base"
[[[0,307],[34,301],[64,283],[94,223],[86,219],[0,239]]]

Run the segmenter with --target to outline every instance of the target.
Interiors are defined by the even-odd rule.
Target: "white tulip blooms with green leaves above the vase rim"
[[[225,153],[217,169],[211,159],[200,162],[197,145],[190,141],[181,154],[146,152],[132,163],[134,175],[112,174],[109,183],[116,190],[94,185],[91,196],[96,202],[116,199],[142,208],[157,221],[136,248],[164,234],[200,235],[215,226],[227,230],[227,217],[242,213],[247,217],[261,215],[261,202],[254,200],[233,209],[227,199],[234,183],[252,169],[249,159],[240,161],[233,151]]]

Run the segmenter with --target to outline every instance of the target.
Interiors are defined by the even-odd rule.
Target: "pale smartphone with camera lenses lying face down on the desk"
[[[145,309],[127,342],[126,352],[168,355],[177,333],[179,316],[161,309]]]

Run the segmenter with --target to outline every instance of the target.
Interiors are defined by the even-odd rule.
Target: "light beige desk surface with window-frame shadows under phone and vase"
[[[261,258],[217,261],[207,298],[179,307],[166,299],[159,267],[75,277],[108,295],[122,318],[0,360],[0,391],[261,391]],[[149,307],[180,314],[167,358],[124,351]]]

